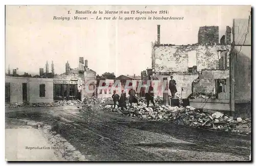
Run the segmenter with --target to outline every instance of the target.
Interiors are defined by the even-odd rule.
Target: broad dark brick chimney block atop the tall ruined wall
[[[199,44],[219,43],[219,27],[218,26],[204,26],[200,27],[198,31]]]

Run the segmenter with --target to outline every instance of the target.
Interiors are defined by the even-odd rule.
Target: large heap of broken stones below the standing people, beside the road
[[[231,131],[235,133],[249,134],[250,120],[241,117],[233,118],[232,116],[221,112],[209,113],[202,112],[193,107],[171,107],[164,105],[156,105],[155,107],[146,107],[141,103],[133,107],[127,106],[127,109],[121,111],[120,108],[113,109],[113,106],[106,105],[104,110],[111,112],[122,112],[127,116],[141,118],[142,120],[170,121],[179,125],[193,126],[197,128]],[[241,128],[242,127],[242,128]]]

